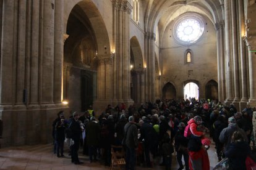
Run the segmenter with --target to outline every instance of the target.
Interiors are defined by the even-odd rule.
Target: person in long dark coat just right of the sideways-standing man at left
[[[87,145],[89,147],[90,162],[92,163],[93,160],[96,161],[96,148],[100,144],[100,124],[96,122],[95,117],[91,117],[91,121],[87,124],[85,132]]]

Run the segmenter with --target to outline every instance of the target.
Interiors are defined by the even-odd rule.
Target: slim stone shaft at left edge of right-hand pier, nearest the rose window
[[[218,98],[221,102],[224,101],[224,46],[223,46],[223,22],[215,24],[217,34],[217,62],[218,62]]]

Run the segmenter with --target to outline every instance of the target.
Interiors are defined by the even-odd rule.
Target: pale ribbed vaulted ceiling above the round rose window
[[[145,12],[145,31],[163,33],[166,26],[188,12],[207,17],[213,24],[223,20],[223,0],[142,0]],[[161,36],[161,35],[160,35]]]

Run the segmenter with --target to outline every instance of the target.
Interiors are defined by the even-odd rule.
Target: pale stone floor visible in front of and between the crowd
[[[70,156],[64,153],[64,158],[58,158],[52,151],[53,145],[33,145],[22,147],[10,147],[0,149],[0,169],[109,169],[102,163],[90,163],[88,156],[82,155],[82,150],[79,151],[80,161],[83,164],[75,165],[71,163]],[[214,146],[208,150],[210,166],[215,166],[218,159],[216,157]],[[158,166],[159,160],[154,160],[154,168],[142,168],[137,166],[137,170],[143,169],[164,169],[163,166]],[[178,169],[179,166],[173,156],[173,164],[171,169]]]

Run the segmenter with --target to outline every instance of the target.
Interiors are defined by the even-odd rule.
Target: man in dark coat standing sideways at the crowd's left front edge
[[[72,140],[74,140],[74,144],[70,146],[71,162],[74,164],[82,164],[82,162],[79,161],[79,157],[78,157],[79,140],[80,140],[80,136],[82,134],[82,129],[80,127],[79,115],[76,111],[73,113],[73,118],[70,123],[70,129],[73,134]]]

